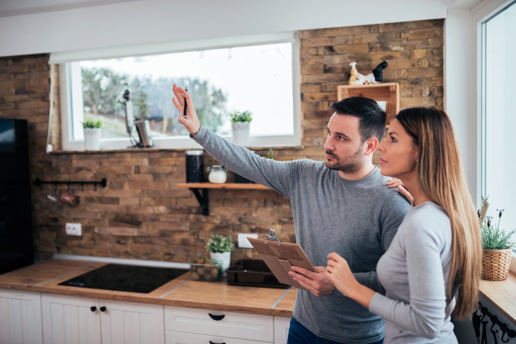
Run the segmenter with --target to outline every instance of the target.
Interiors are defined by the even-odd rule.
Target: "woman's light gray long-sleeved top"
[[[432,202],[412,207],[380,258],[377,275],[386,290],[369,311],[385,319],[385,343],[457,343],[446,302],[451,225]]]

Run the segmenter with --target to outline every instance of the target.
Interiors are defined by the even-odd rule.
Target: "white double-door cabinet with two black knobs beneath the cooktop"
[[[165,340],[160,305],[43,294],[42,314],[45,344],[163,344]]]

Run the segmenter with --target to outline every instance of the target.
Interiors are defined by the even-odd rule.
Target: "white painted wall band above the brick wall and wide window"
[[[443,0],[111,3],[0,18],[0,56],[437,19],[446,8]]]

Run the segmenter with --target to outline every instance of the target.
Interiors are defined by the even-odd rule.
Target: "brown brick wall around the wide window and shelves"
[[[418,21],[328,28],[299,32],[301,43],[302,149],[275,150],[277,160],[321,160],[328,107],[336,86],[347,84],[349,62],[365,73],[389,62],[384,82],[400,83],[401,108],[443,106],[443,21]],[[0,58],[0,117],[26,118],[30,126],[31,175],[42,180],[99,180],[105,189],[73,188],[80,203],[69,207],[47,199],[52,185],[33,188],[35,250],[40,259],[53,253],[131,257],[188,262],[205,255],[214,233],[231,235],[274,228],[293,241],[287,198],[273,191],[210,191],[210,215],[200,214],[185,181],[181,150],[99,153],[45,153],[49,109],[58,109],[57,70],[48,55]],[[51,118],[52,143],[59,146],[59,118]],[[267,156],[266,150],[257,153]],[[205,157],[205,165],[214,163]],[[66,190],[66,186],[58,191]],[[80,222],[83,236],[65,235],[65,222]],[[232,260],[250,256],[237,249]]]

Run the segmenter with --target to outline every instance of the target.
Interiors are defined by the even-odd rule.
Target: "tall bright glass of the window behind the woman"
[[[516,228],[516,1],[482,23],[482,195]],[[493,219],[493,220],[498,220]],[[516,239],[516,238],[514,238]]]

